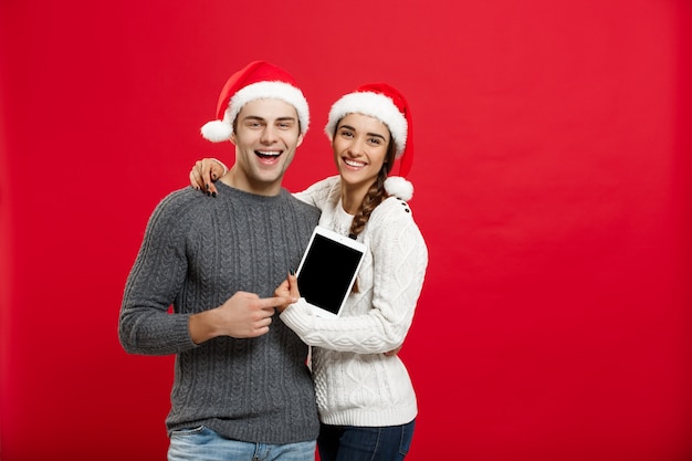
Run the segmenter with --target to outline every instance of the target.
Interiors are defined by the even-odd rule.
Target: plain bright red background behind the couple
[[[430,269],[401,356],[411,461],[692,458],[691,3],[0,1],[4,461],[165,459],[170,357],[116,324],[149,213],[231,72],[413,108]]]

